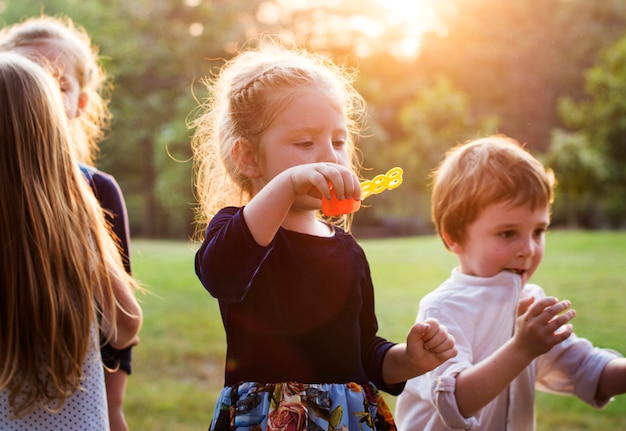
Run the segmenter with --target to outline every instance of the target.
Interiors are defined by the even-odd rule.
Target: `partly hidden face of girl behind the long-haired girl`
[[[63,50],[54,43],[41,42],[32,46],[21,46],[15,51],[40,63],[58,81],[68,120],[73,120],[83,112],[87,104],[87,94],[81,91],[76,69]]]

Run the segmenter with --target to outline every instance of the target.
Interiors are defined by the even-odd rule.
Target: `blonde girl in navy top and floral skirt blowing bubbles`
[[[378,389],[398,394],[456,349],[434,319],[403,344],[377,336],[365,254],[347,217],[319,216],[329,185],[360,196],[364,103],[350,76],[270,43],[207,84],[193,147],[208,228],[195,265],[228,341],[210,430],[395,429]]]

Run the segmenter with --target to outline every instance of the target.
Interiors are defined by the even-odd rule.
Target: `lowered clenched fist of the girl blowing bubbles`
[[[457,355],[454,337],[437,319],[414,324],[406,339],[406,352],[418,375]]]

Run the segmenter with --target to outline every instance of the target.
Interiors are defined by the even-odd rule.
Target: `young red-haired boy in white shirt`
[[[407,382],[400,431],[533,430],[535,389],[600,408],[626,391],[626,360],[578,338],[567,300],[527,284],[543,257],[554,176],[516,141],[451,150],[436,170],[432,215],[458,267],[420,303],[458,355]]]

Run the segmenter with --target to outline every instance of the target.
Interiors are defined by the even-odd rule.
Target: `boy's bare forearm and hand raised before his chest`
[[[569,301],[543,298],[520,301],[513,338],[456,378],[455,397],[464,417],[475,415],[498,396],[539,355],[572,334],[566,325],[575,316]],[[531,305],[532,304],[532,305]],[[566,311],[564,314],[564,311]],[[566,325],[566,326],[564,326]]]

